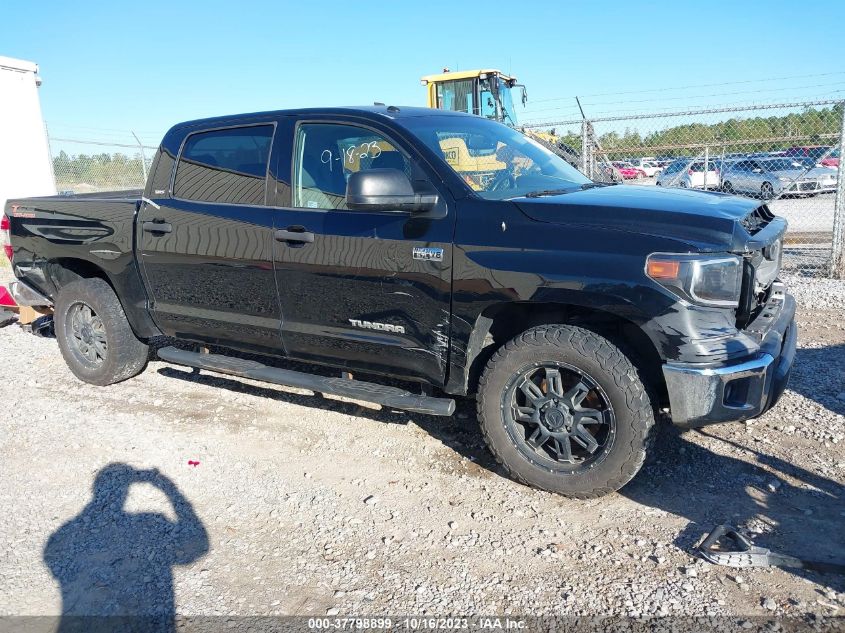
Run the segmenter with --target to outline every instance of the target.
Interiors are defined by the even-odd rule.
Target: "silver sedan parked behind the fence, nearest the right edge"
[[[831,179],[830,171],[807,171],[790,158],[747,158],[733,163],[722,174],[722,191],[766,200],[780,195],[812,196],[836,188],[836,175]]]

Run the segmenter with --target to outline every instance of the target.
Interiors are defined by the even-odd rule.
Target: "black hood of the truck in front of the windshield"
[[[513,198],[539,222],[674,238],[700,250],[742,249],[739,221],[759,201],[722,193],[616,185],[540,198]]]

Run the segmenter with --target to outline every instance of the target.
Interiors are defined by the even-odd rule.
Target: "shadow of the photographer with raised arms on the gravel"
[[[126,511],[131,485],[142,483],[164,493],[176,521]],[[44,562],[61,584],[58,630],[175,630],[172,568],[207,552],[205,527],[170,479],[158,470],[105,466],[90,502],[44,548]]]

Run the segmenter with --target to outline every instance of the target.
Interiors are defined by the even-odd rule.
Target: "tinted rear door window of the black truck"
[[[173,196],[203,202],[264,204],[272,125],[191,134],[185,141]]]

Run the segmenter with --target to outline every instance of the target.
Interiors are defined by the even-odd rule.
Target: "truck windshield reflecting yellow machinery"
[[[401,122],[488,200],[575,190],[591,182],[559,156],[495,121],[432,115]]]

